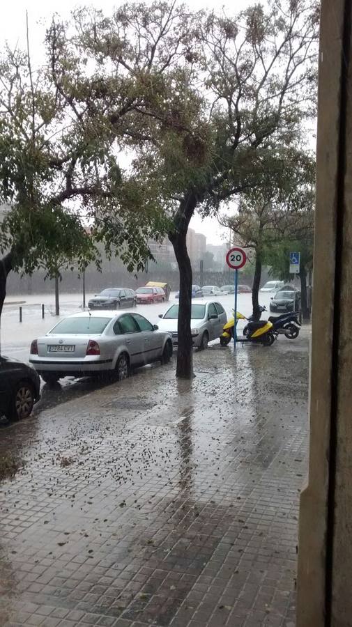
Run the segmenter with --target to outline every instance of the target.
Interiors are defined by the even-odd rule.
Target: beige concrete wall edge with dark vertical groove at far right
[[[352,625],[351,0],[323,0],[319,54],[309,479],[297,627]]]

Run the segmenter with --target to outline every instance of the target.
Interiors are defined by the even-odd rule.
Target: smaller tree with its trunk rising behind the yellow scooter
[[[257,186],[241,195],[236,214],[222,218],[222,224],[236,233],[240,243],[254,251],[254,320],[261,316],[259,288],[263,263],[273,259],[275,265],[281,259],[279,251],[284,238],[295,238],[307,229],[312,215],[314,161],[310,155],[294,148],[277,147],[267,167]]]

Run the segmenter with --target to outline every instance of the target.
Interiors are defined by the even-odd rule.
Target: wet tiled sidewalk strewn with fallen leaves
[[[0,626],[294,627],[309,332],[0,430]]]

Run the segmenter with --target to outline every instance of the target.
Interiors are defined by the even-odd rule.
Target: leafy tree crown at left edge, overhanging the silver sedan
[[[70,55],[58,68],[62,40],[54,24],[52,38],[49,65],[38,70],[28,30],[26,52],[6,48],[0,59],[0,201],[8,205],[0,226],[0,316],[11,270],[45,268],[56,277],[73,263],[83,269],[95,261],[99,268],[100,241],[128,269],[141,269],[151,257],[148,238],[167,230],[158,190],[118,164],[132,125],[122,124],[123,102],[133,86],[126,79],[119,122],[107,124],[97,82],[79,81]]]

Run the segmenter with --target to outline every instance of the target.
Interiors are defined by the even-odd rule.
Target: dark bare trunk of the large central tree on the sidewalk
[[[188,256],[186,237],[188,225],[196,206],[197,196],[193,192],[185,194],[174,218],[175,229],[169,233],[169,240],[174,247],[180,273],[176,377],[182,379],[192,379],[194,377],[191,334],[192,266]]]

